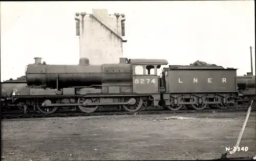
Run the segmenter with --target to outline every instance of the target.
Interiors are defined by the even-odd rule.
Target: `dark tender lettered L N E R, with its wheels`
[[[167,108],[227,108],[238,99],[237,69],[222,66],[170,66],[162,72]]]

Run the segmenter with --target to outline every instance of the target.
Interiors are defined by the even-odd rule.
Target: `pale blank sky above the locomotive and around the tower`
[[[25,75],[41,57],[47,64],[78,64],[74,14],[124,13],[123,57],[197,60],[255,74],[254,1],[1,2],[1,81]]]

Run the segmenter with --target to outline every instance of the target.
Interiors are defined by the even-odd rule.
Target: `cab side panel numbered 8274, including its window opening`
[[[143,67],[142,72],[137,72],[137,66]],[[140,68],[141,68],[140,67]],[[133,67],[133,92],[134,93],[159,93],[158,90],[158,76],[157,74],[146,74],[145,66],[134,65]]]

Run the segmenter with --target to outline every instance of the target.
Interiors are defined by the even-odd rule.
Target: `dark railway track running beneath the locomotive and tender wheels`
[[[246,106],[248,107],[248,106]],[[239,108],[227,109],[205,109],[205,110],[186,110],[169,111],[164,109],[145,109],[139,112],[125,112],[119,109],[99,109],[94,113],[81,113],[77,110],[60,110],[54,114],[41,114],[37,112],[30,112],[24,114],[21,111],[2,112],[1,119],[18,119],[18,118],[50,118],[50,117],[74,117],[74,116],[111,116],[111,115],[146,115],[146,114],[180,114],[180,113],[223,113],[223,112],[245,112],[248,108],[244,106]],[[256,106],[252,106],[251,111],[256,111]]]

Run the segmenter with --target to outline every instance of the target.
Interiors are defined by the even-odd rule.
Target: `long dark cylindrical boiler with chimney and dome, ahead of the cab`
[[[26,71],[27,84],[31,87],[62,89],[132,80],[131,65],[123,64],[126,59],[111,65],[90,65],[87,58],[80,59],[79,65],[47,65],[41,64],[41,58],[34,59],[35,63],[29,64]]]

